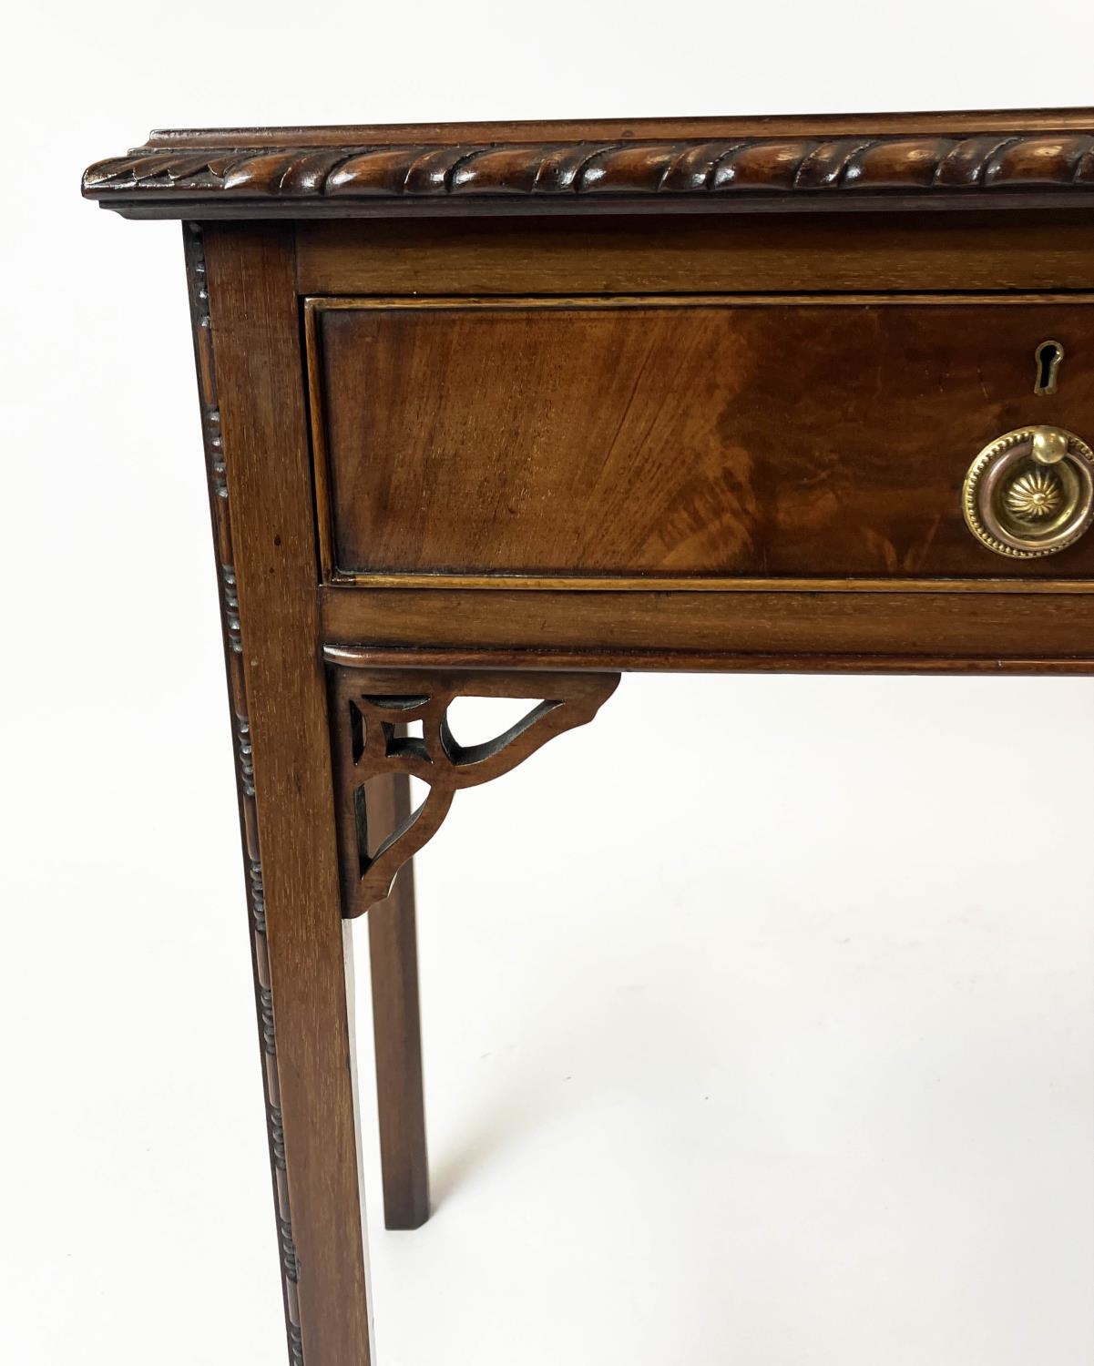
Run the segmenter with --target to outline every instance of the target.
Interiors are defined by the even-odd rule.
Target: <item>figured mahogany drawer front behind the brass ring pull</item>
[[[962,488],[1012,429],[1094,443],[1091,329],[1083,298],[310,299],[325,572],[1086,576],[1094,531],[996,555]]]

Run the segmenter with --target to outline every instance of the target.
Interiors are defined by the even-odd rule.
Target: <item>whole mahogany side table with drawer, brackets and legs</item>
[[[169,131],[83,193],[183,220],[288,1354],[366,1366],[344,921],[414,1228],[460,788],[627,669],[1094,672],[1094,112]]]

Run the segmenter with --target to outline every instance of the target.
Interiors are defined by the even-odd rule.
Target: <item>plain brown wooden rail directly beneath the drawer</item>
[[[899,656],[914,660],[1068,658],[1094,653],[1094,597],[1008,593],[466,593],[328,587],[324,641],[370,649],[597,652],[621,668],[635,650],[721,656]],[[683,665],[680,665],[683,667]]]

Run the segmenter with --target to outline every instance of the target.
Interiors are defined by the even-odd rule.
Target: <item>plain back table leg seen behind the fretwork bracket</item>
[[[395,829],[410,816],[410,779],[396,773],[378,780],[369,800],[370,820]],[[412,863],[403,865],[391,896],[373,906],[367,921],[384,1224],[421,1228],[429,1218],[429,1158]]]

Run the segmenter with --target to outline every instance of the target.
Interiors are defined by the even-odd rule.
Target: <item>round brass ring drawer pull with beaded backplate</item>
[[[997,555],[1054,555],[1094,520],[1094,451],[1063,428],[1005,432],[968,467],[963,505],[972,534]]]

